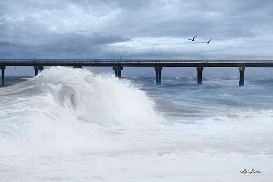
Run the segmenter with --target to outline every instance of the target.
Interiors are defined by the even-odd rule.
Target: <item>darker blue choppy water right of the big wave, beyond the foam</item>
[[[174,119],[273,109],[273,79],[247,78],[244,87],[238,86],[238,78],[203,78],[203,85],[197,85],[196,78],[164,77],[160,86],[154,78],[127,79],[153,98],[158,111]]]

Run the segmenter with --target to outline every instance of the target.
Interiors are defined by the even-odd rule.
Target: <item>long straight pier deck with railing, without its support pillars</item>
[[[0,66],[273,67],[273,60],[0,59]]]

